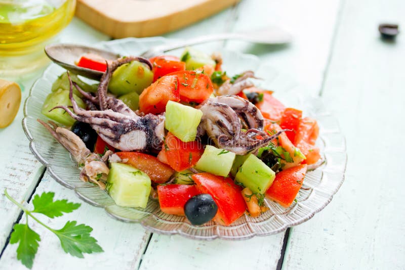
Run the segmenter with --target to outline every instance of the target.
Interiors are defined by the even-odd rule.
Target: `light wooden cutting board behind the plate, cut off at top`
[[[76,16],[113,38],[161,35],[239,0],[77,0]]]

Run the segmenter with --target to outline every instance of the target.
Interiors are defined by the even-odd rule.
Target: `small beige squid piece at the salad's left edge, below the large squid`
[[[40,119],[37,119],[37,121],[69,151],[79,167],[83,167],[82,171],[80,171],[80,179],[84,182],[94,183],[104,190],[105,181],[110,171],[107,166],[107,160],[112,152],[108,150],[100,157],[98,154],[92,153],[85,143],[69,129],[60,127],[52,121],[48,121],[48,124]]]

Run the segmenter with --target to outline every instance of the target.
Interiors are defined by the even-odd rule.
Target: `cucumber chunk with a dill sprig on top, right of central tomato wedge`
[[[235,153],[207,145],[203,156],[201,156],[194,167],[197,170],[211,172],[220,176],[228,176],[235,156]]]

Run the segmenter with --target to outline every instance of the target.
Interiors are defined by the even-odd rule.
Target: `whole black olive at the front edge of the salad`
[[[210,221],[218,211],[218,206],[210,194],[198,194],[184,205],[184,213],[193,225]]]

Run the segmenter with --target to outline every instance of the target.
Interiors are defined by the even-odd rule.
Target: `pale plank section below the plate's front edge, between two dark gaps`
[[[141,270],[274,269],[284,233],[244,241],[196,241],[153,234]]]

